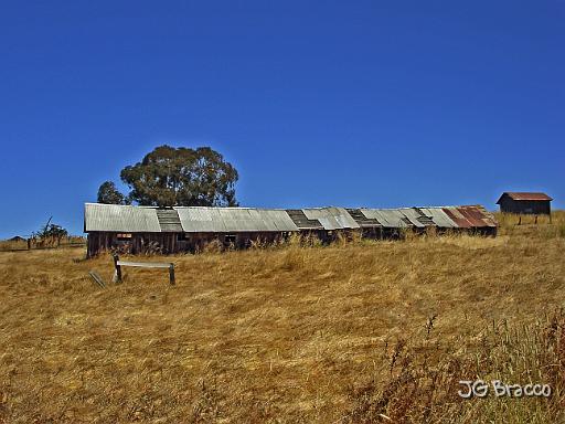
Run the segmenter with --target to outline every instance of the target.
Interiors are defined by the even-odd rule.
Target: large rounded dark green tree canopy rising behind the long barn
[[[153,206],[234,206],[236,169],[210,147],[190,149],[160,146],[134,165],[124,168],[121,180],[129,187],[127,197],[110,181],[100,186],[100,203],[134,201]],[[102,198],[100,198],[102,192]]]

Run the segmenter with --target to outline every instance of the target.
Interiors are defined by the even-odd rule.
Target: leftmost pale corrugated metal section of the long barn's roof
[[[154,208],[86,203],[85,232],[159,233],[161,226]]]

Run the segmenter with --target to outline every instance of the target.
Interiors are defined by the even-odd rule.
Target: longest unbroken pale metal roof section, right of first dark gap
[[[277,209],[174,208],[186,233],[298,231],[288,213]]]

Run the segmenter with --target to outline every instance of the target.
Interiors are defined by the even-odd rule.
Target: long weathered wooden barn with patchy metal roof
[[[292,233],[331,242],[339,234],[394,239],[403,231],[467,231],[497,234],[497,221],[480,205],[398,209],[258,209],[132,206],[86,203],[88,257],[109,250],[134,254],[198,252],[209,243],[244,248],[274,243]]]

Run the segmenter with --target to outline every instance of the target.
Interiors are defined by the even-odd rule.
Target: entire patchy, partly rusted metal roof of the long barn
[[[151,206],[85,204],[85,232],[124,233],[231,233],[288,232],[299,230],[343,230],[370,225],[384,227],[495,227],[494,216],[481,205],[397,209],[343,208],[276,210],[250,208]],[[178,215],[178,218],[177,218]],[[359,221],[359,222],[358,222]]]

